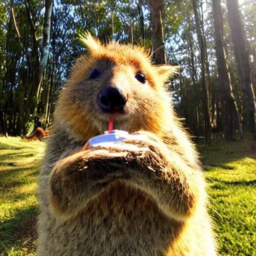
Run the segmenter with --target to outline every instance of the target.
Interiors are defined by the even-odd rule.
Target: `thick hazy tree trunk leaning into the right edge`
[[[243,27],[238,9],[238,0],[227,0],[227,17],[231,29],[234,54],[238,67],[238,75],[241,83],[243,101],[247,105],[248,123],[256,140],[256,101],[252,86],[248,53],[246,51]]]

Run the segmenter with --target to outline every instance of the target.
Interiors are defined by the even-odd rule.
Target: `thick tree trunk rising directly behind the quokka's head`
[[[150,11],[152,23],[153,23],[153,58],[156,64],[166,63],[164,35],[162,25],[162,7],[163,0],[147,0],[147,5]]]

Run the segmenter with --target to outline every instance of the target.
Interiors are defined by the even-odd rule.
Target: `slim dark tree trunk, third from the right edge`
[[[211,125],[210,125],[210,112],[209,112],[209,84],[206,79],[206,54],[205,54],[205,44],[203,42],[202,31],[200,28],[200,19],[198,14],[198,1],[192,0],[194,17],[195,17],[195,27],[198,38],[198,43],[200,47],[200,57],[201,57],[201,84],[202,84],[202,104],[203,104],[203,117],[204,117],[204,130],[205,130],[205,142],[208,144],[211,138]]]

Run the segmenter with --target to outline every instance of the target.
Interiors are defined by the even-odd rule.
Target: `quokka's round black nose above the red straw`
[[[126,99],[119,90],[106,87],[98,96],[98,105],[105,112],[118,112],[123,110]]]

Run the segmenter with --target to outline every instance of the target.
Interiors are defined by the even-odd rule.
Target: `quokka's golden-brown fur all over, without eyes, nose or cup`
[[[164,89],[176,68],[152,65],[136,46],[104,46],[89,34],[83,42],[89,54],[60,93],[40,171],[37,254],[215,255],[197,153]],[[95,67],[100,76],[88,79]],[[97,106],[106,86],[128,98],[115,128],[148,139],[81,151],[107,130]]]

